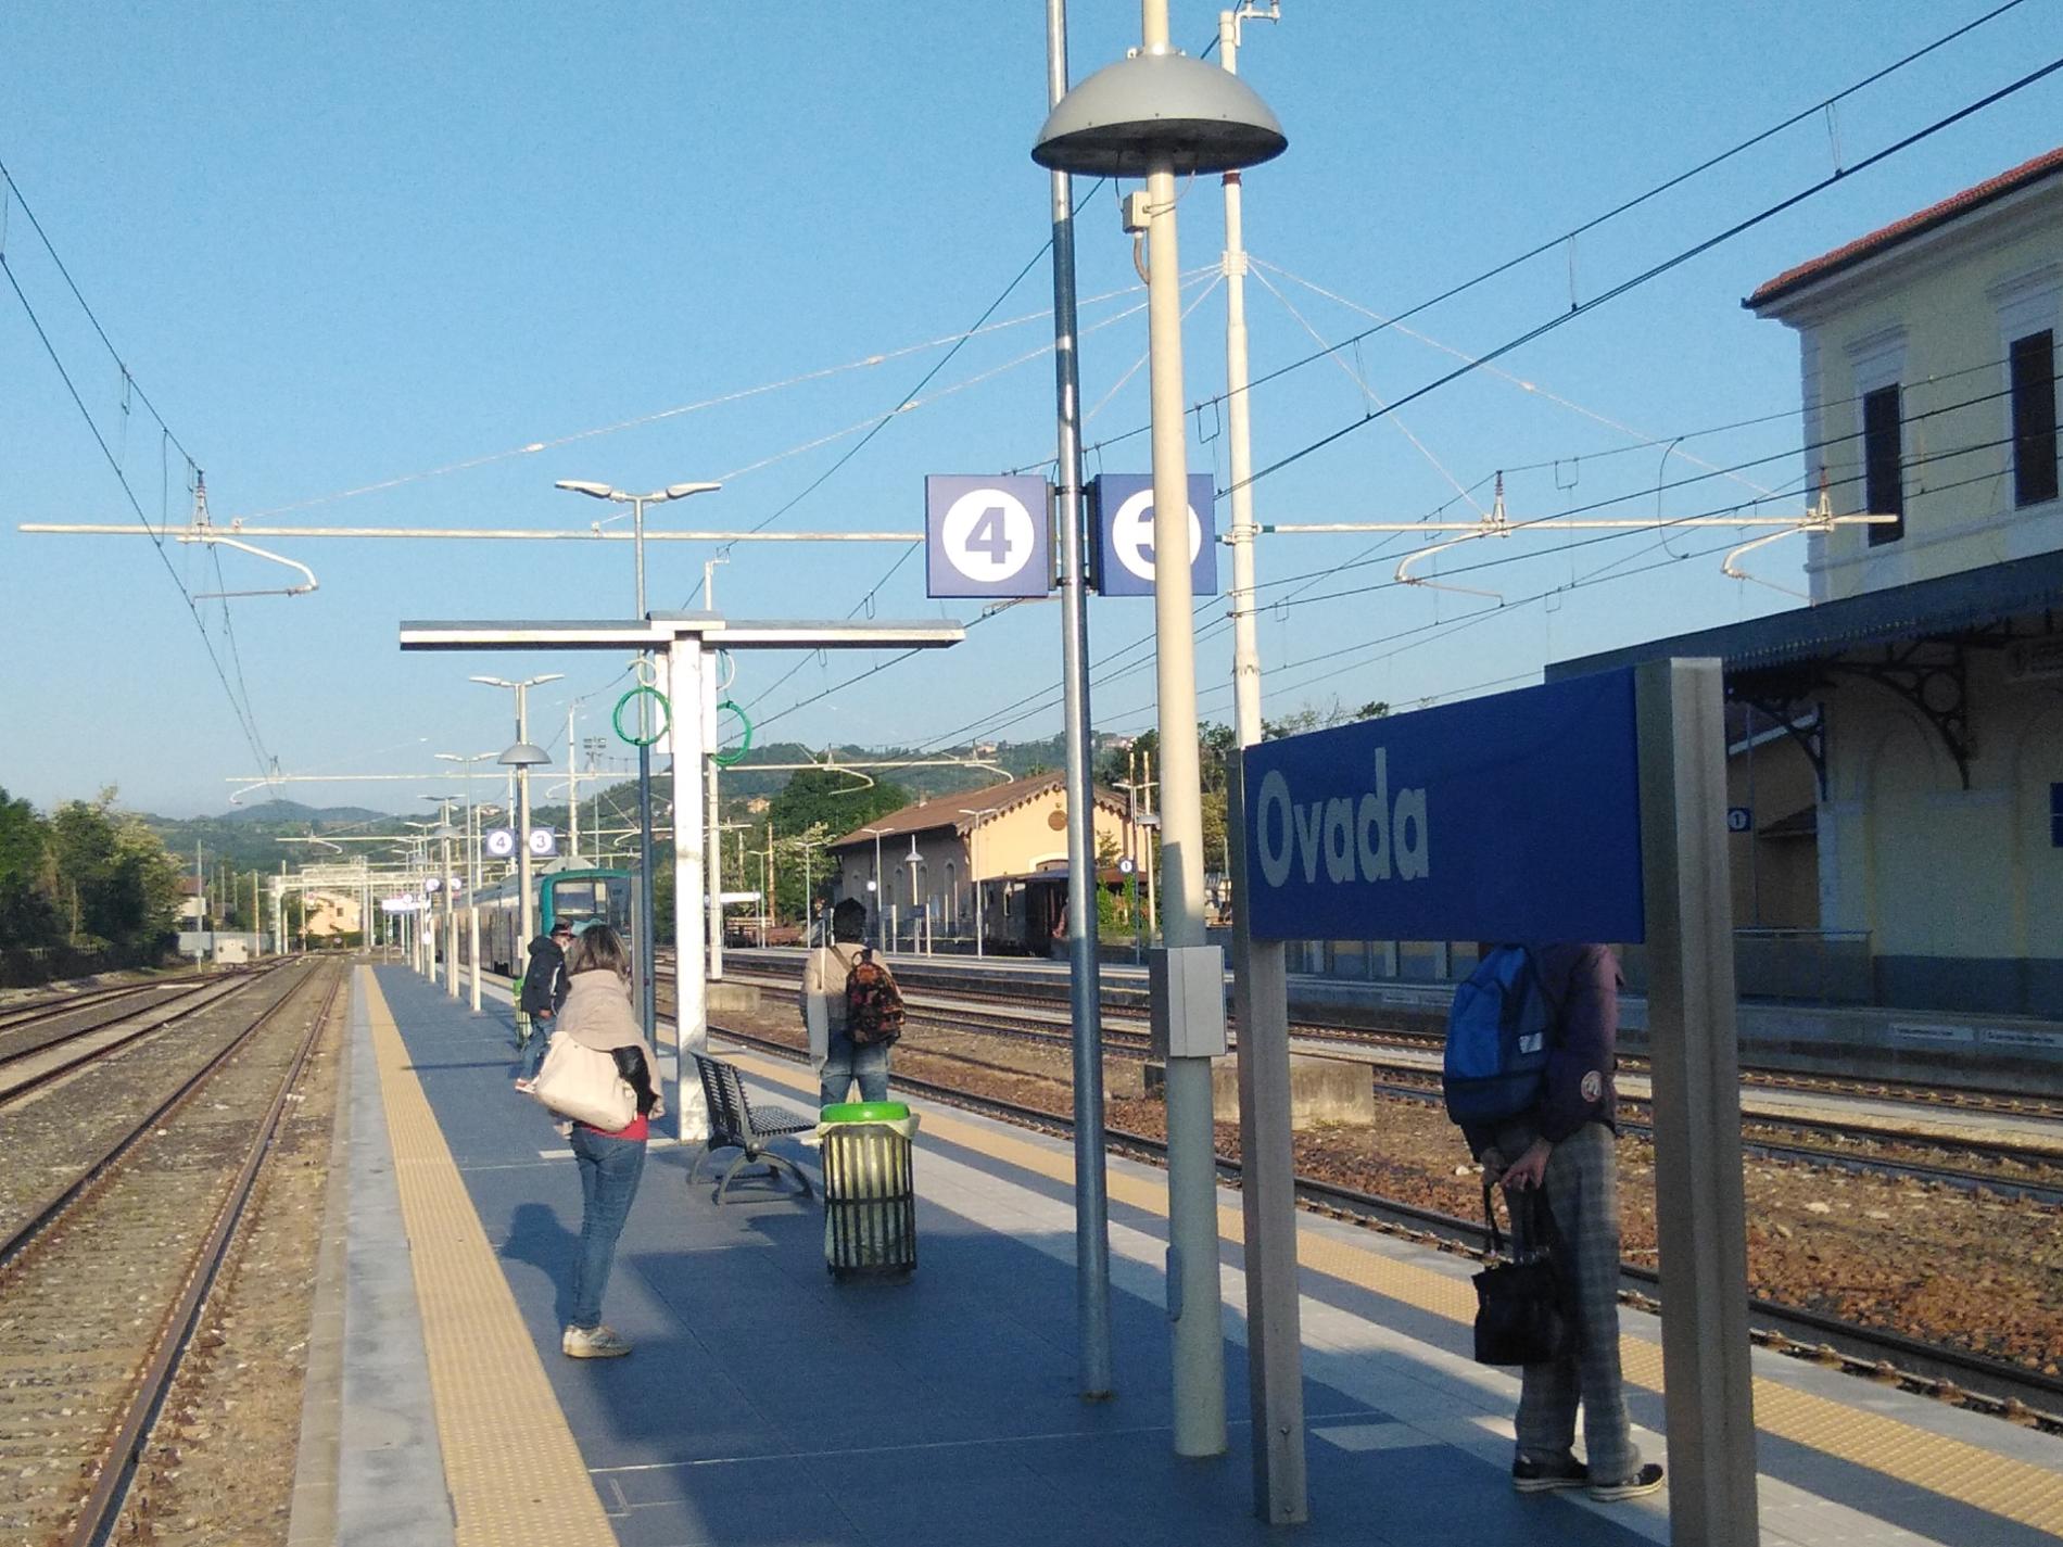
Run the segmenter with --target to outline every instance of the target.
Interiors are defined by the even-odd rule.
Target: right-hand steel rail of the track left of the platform
[[[256,1038],[258,1031],[274,1015],[285,1011],[285,1007],[291,1005],[305,986],[307,980],[289,988],[276,1005],[252,1021],[252,1025],[229,1046],[229,1050],[210,1060],[208,1071],[219,1068],[229,1052],[243,1048],[243,1044]],[[316,1011],[316,1019],[309,1025],[307,1035],[301,1038],[293,1064],[281,1079],[279,1091],[272,1097],[272,1108],[266,1112],[264,1122],[258,1124],[258,1137],[252,1141],[252,1147],[243,1157],[243,1167],[237,1172],[229,1194],[217,1209],[212,1229],[194,1252],[192,1264],[186,1273],[186,1289],[159,1324],[155,1353],[142,1372],[142,1384],[130,1398],[130,1407],[124,1413],[122,1423],[116,1427],[107,1462],[103,1462],[99,1475],[95,1477],[93,1491],[87,1493],[78,1522],[66,1539],[68,1547],[95,1547],[97,1543],[107,1541],[113,1533],[122,1506],[128,1500],[128,1485],[136,1475],[136,1464],[142,1458],[142,1448],[149,1440],[151,1427],[157,1423],[157,1413],[163,1407],[165,1396],[171,1392],[171,1382],[175,1380],[179,1361],[192,1343],[194,1326],[200,1318],[202,1306],[206,1304],[208,1289],[215,1287],[221,1264],[229,1254],[235,1227],[243,1219],[243,1207],[250,1203],[252,1190],[258,1182],[258,1170],[264,1165],[266,1155],[272,1153],[272,1143],[279,1137],[279,1120],[287,1110],[287,1097],[293,1093],[316,1042],[330,1023],[330,1011],[336,1007],[336,996],[342,992],[342,986],[345,974],[338,972],[330,980],[330,992],[324,996],[322,1009]]]

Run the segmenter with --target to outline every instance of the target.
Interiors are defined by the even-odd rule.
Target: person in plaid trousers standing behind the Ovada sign
[[[1543,1493],[1586,1487],[1595,1500],[1630,1500],[1663,1485],[1663,1469],[1634,1446],[1619,1382],[1619,1167],[1617,1064],[1619,963],[1605,945],[1529,947],[1556,1011],[1556,1044],[1539,1101],[1494,1130],[1467,1126],[1483,1176],[1506,1194],[1543,1188],[1560,1233],[1558,1264],[1574,1347],[1520,1372],[1518,1454],[1512,1487]],[[1516,1198],[1514,1198],[1516,1200]],[[1520,1250],[1525,1211],[1512,1209]],[[1576,1407],[1589,1464],[1576,1460]]]

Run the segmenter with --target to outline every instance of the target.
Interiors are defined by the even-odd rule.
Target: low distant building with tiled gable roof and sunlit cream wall
[[[1131,821],[1124,796],[1100,786],[1095,846],[1106,856],[1145,854],[1145,829]],[[988,949],[1046,957],[1065,934],[1060,774],[918,800],[833,840],[827,852],[836,895],[864,901],[869,934],[879,914],[902,947],[928,939],[972,949],[980,920]]]

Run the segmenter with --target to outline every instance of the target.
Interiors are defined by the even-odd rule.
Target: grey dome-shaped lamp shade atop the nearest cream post
[[[1184,54],[1137,54],[1067,93],[1032,159],[1054,171],[1143,177],[1157,159],[1178,173],[1236,171],[1287,146],[1269,105],[1230,70]]]

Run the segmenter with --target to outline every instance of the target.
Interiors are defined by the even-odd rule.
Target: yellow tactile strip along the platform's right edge
[[[794,1064],[751,1056],[741,1056],[739,1062],[759,1079],[794,1089],[815,1089],[807,1079],[796,1077]],[[937,1108],[924,1112],[924,1132],[1069,1186],[1075,1182],[1073,1155],[992,1132]],[[1164,1217],[1168,1213],[1168,1190],[1155,1182],[1112,1174],[1108,1190],[1112,1203]],[[1234,1244],[1244,1242],[1246,1221],[1238,1209],[1219,1205],[1217,1233]],[[1331,1233],[1300,1229],[1298,1262],[1312,1273],[1452,1322],[1471,1324],[1475,1320],[1475,1291],[1467,1279],[1432,1273],[1380,1252],[1364,1252]],[[1619,1341],[1619,1357],[1630,1384],[1646,1390],[1663,1388],[1659,1343],[1626,1335]],[[2003,1520],[2063,1537],[2063,1473],[2046,1467],[1999,1456],[1964,1440],[1950,1440],[1762,1376],[1756,1378],[1756,1429],[1896,1477]]]

